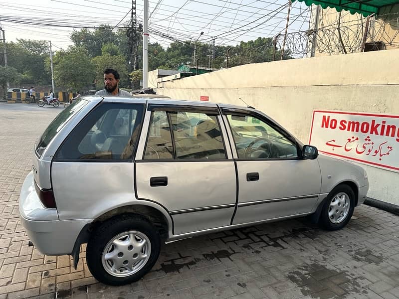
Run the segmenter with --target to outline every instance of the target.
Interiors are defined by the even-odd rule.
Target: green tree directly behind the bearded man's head
[[[112,68],[118,71],[120,75],[119,86],[124,88],[130,87],[130,79],[128,77],[128,68],[126,59],[123,55],[111,56],[108,53],[91,59],[91,63],[95,68],[96,88],[102,89],[104,86],[104,70]]]

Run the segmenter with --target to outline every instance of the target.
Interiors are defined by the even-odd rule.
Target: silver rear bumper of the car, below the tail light
[[[34,246],[45,255],[71,254],[82,228],[93,219],[59,220],[56,209],[45,208],[33,186],[33,173],[23,182],[19,216]]]

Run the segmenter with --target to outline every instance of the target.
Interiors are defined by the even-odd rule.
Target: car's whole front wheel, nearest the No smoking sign
[[[326,198],[320,223],[327,230],[338,230],[345,227],[351,220],[355,209],[355,193],[348,185],[336,186]]]

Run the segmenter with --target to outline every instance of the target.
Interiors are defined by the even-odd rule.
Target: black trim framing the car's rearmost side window
[[[136,141],[136,146],[133,149],[132,152],[132,157],[129,159],[60,159],[60,158],[56,158],[58,151],[61,150],[61,148],[64,146],[65,142],[68,140],[69,136],[76,130],[76,128],[78,128],[90,115],[90,113],[94,112],[94,110],[99,109],[102,105],[127,105],[127,106],[131,106],[131,105],[135,105],[138,107],[142,107],[142,115],[141,115],[141,120],[140,123],[137,126],[137,130],[139,130],[139,134],[137,136],[137,141]],[[110,108],[112,109],[112,108]],[[110,110],[109,109],[109,110]],[[108,110],[108,111],[109,111]],[[141,131],[143,128],[143,121],[144,121],[144,116],[146,114],[146,105],[143,103],[119,103],[119,102],[100,102],[98,105],[94,106],[93,109],[91,109],[80,121],[79,123],[68,133],[68,135],[64,138],[64,140],[62,141],[62,143],[60,144],[60,146],[58,147],[58,149],[55,151],[54,153],[54,157],[52,159],[52,162],[91,162],[91,163],[126,163],[126,162],[133,162],[134,158],[136,156],[136,152],[137,152],[137,148],[138,148],[138,143],[140,141],[140,137],[141,137]],[[102,120],[101,124],[104,122],[104,120]],[[134,131],[132,132],[133,135]],[[132,136],[131,135],[131,136]]]

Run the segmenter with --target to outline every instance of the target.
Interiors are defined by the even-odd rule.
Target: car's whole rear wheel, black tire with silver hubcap
[[[155,227],[136,214],[102,223],[86,248],[87,266],[99,282],[121,286],[147,274],[158,260],[161,239]]]

